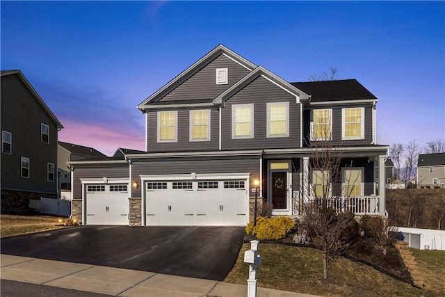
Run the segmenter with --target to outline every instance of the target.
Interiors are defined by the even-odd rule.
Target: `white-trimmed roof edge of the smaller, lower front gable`
[[[273,74],[266,68],[258,66],[252,72],[243,77],[243,79],[239,80],[232,87],[228,88],[218,97],[216,97],[213,100],[213,104],[222,104],[223,102],[225,102],[225,100],[229,99],[229,97],[232,97],[232,95],[254,81],[254,79],[257,79],[257,77],[259,76],[266,77],[266,79],[272,81],[272,83],[275,83],[280,88],[283,88],[284,90],[286,90],[286,92],[291,93],[291,95],[293,96],[296,96],[297,102],[300,102],[300,97],[302,97],[302,99],[309,99],[309,95],[307,95],[306,93],[302,92],[295,86],[292,86],[290,83],[284,81],[284,79]]]

